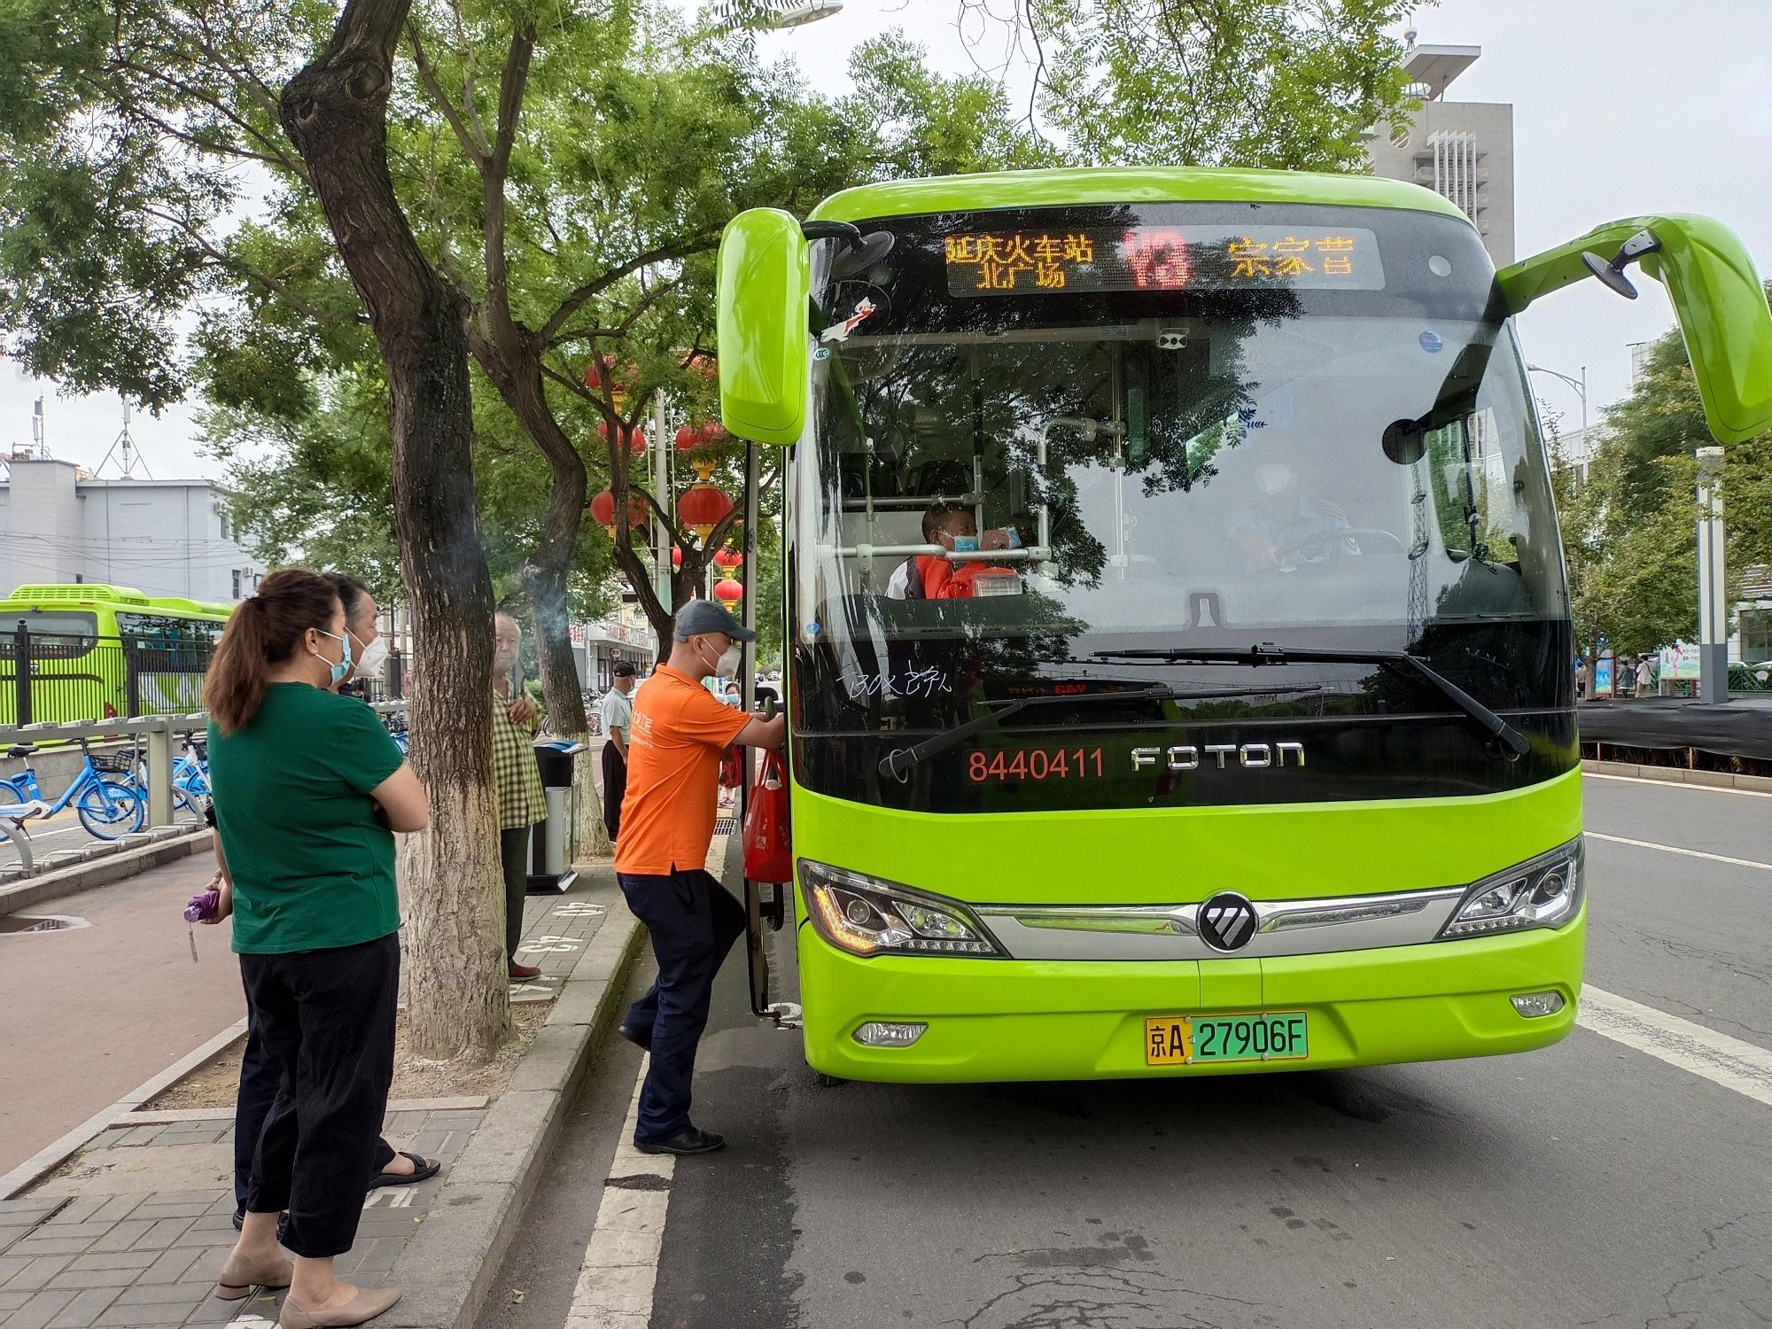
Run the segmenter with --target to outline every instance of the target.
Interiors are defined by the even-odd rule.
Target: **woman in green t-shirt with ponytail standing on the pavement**
[[[333,1256],[356,1240],[393,1081],[393,831],[422,831],[429,808],[374,712],[328,691],[349,668],[331,583],[284,569],[234,610],[204,684],[234,950],[282,1072],[216,1295],[287,1286],[284,1329],[363,1324],[400,1297],[337,1278]],[[284,1210],[292,1265],[276,1240]]]

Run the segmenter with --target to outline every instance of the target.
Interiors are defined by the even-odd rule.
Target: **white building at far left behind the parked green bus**
[[[262,571],[211,480],[96,480],[30,450],[14,452],[0,478],[0,595],[25,583],[99,581],[234,602],[253,594]]]

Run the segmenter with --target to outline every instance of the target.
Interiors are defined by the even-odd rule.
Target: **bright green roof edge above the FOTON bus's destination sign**
[[[1207,167],[1001,170],[980,175],[937,175],[921,181],[861,184],[833,193],[813,209],[810,220],[863,222],[994,207],[1145,202],[1338,204],[1343,207],[1439,213],[1469,222],[1449,198],[1403,181],[1304,170]]]

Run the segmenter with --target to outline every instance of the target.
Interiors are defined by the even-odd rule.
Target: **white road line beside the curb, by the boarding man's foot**
[[[664,1247],[664,1214],[677,1159],[634,1148],[640,1090],[647,1083],[650,1063],[650,1056],[640,1058],[634,1097],[627,1104],[622,1138],[610,1162],[610,1184],[602,1187],[597,1223],[578,1269],[565,1329],[647,1329],[652,1320],[652,1290]],[[641,1185],[636,1187],[634,1182]]]

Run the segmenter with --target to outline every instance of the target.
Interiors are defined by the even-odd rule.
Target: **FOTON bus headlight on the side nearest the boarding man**
[[[1003,955],[957,900],[806,858],[799,884],[819,936],[851,955]]]

